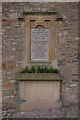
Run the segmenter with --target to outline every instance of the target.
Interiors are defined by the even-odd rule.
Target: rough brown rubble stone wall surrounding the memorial
[[[78,3],[2,3],[3,110],[15,109],[15,73],[23,67],[25,48],[23,11],[58,11],[56,56],[63,75],[61,98],[64,117],[78,116]]]

